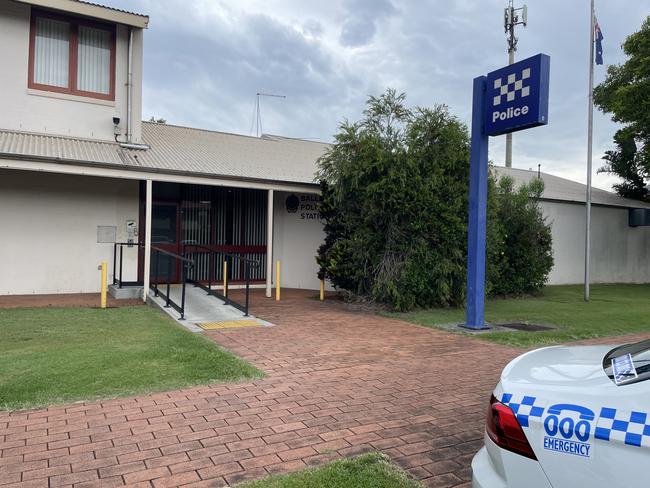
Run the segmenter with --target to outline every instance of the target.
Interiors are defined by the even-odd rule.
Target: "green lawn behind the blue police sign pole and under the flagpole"
[[[528,322],[557,327],[544,332],[490,332],[478,337],[518,347],[650,332],[650,285],[592,285],[591,301],[582,286],[548,286],[539,297],[493,299],[486,303],[491,323]],[[464,309],[433,309],[391,316],[435,327],[465,321]]]

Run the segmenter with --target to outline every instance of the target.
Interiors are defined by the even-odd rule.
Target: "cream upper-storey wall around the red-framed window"
[[[115,101],[97,100],[27,87],[30,6],[0,0],[0,129],[114,140],[113,115],[127,120],[128,28],[118,25],[116,38]],[[141,141],[142,30],[134,29],[133,139]]]

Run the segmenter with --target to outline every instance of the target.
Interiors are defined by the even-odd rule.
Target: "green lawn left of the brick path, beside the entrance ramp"
[[[150,307],[0,310],[0,409],[261,376]]]

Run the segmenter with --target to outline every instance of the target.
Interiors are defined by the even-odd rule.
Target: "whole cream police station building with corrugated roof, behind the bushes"
[[[318,289],[328,146],[141,122],[148,22],[77,0],[0,0],[0,295],[97,292],[101,261],[110,281],[177,281],[170,256],[184,252],[202,282],[223,279],[208,255],[232,253],[261,263],[250,278],[267,291],[276,260],[283,286]],[[541,176],[550,282],[580,283],[584,186]],[[595,282],[650,281],[650,230],[628,225],[631,208],[650,206],[594,190]],[[227,273],[245,278],[234,262]]]

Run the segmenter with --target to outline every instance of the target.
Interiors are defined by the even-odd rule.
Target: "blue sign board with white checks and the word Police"
[[[551,59],[538,54],[487,75],[485,133],[506,134],[548,123]]]

